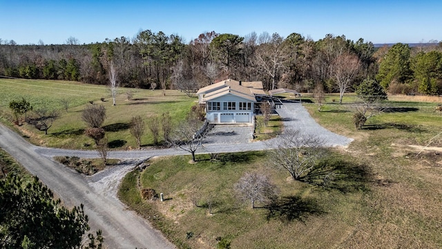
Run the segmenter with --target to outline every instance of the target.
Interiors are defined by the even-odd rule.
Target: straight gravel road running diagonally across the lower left
[[[115,176],[118,174],[124,176],[124,171],[133,167],[131,163],[115,167],[114,174],[107,175],[113,176],[111,182],[115,185],[106,185],[104,184],[107,182],[106,177],[93,181],[56,163],[51,158],[41,156],[33,145],[1,124],[0,147],[26,167],[31,174],[37,175],[67,206],[83,203],[91,228],[103,231],[108,248],[175,248],[137,214],[126,210],[115,195],[103,194],[108,192],[106,191],[108,187],[111,187],[111,192],[115,192],[118,183],[113,181]],[[137,160],[133,163],[136,164]],[[106,172],[103,176],[106,176]]]

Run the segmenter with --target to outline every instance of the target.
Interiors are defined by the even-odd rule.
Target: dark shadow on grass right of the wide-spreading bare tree
[[[323,160],[300,181],[343,193],[368,191],[372,172],[367,165],[341,159]]]

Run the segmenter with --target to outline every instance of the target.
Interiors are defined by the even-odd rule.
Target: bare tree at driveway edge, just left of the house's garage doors
[[[169,143],[192,154],[192,161],[195,162],[195,151],[202,146],[208,131],[209,125],[203,126],[202,121],[188,118],[175,128]]]

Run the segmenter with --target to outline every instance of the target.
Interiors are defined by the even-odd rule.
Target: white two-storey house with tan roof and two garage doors
[[[197,92],[206,106],[206,120],[215,123],[251,123],[257,98],[266,95],[262,82],[223,80]]]

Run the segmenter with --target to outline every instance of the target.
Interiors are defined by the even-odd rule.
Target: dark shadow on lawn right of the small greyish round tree
[[[299,196],[284,196],[265,208],[267,220],[280,219],[281,221],[304,221],[309,215],[324,214],[318,202],[314,199],[301,199]]]

